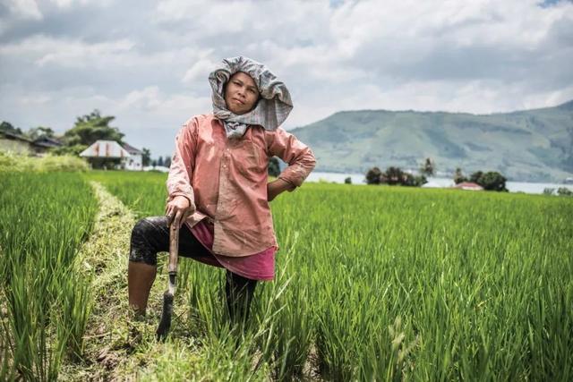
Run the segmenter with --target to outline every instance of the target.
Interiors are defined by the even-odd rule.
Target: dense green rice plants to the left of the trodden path
[[[0,176],[0,305],[9,318],[3,373],[53,380],[66,350],[81,356],[90,280],[73,264],[97,203],[78,174]]]

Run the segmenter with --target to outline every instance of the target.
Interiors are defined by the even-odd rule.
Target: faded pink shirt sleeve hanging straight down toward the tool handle
[[[195,118],[184,123],[175,137],[175,153],[167,176],[167,201],[176,196],[189,199],[195,204],[191,186],[192,172],[195,167],[195,149],[197,145],[197,121]]]

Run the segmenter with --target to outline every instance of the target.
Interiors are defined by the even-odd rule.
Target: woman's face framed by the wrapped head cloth
[[[243,115],[252,110],[258,99],[259,89],[251,76],[244,72],[235,72],[225,89],[227,109],[235,115]]]

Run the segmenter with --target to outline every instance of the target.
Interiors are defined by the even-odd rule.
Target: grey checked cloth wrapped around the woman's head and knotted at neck
[[[225,84],[235,72],[249,74],[261,93],[257,106],[244,115],[231,113],[225,103]],[[276,130],[293,109],[286,85],[263,64],[242,55],[223,60],[222,65],[210,73],[209,82],[213,89],[213,113],[223,120],[227,138],[242,137],[250,124],[259,124],[269,131]]]

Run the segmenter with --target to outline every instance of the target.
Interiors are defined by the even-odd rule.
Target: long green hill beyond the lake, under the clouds
[[[456,167],[464,174],[500,171],[513,181],[573,176],[573,101],[492,115],[344,111],[291,132],[312,147],[318,171],[417,169],[431,157],[445,176]]]

